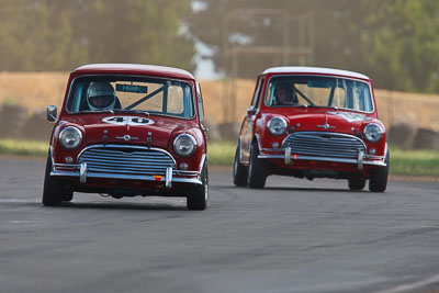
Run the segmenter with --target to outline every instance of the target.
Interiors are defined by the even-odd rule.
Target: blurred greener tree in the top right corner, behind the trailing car
[[[358,67],[380,87],[439,92],[439,2],[363,0],[362,4],[367,13],[354,30],[362,45]]]

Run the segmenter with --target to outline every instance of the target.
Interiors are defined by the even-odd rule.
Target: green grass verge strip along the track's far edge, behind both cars
[[[47,156],[48,144],[32,140],[0,139],[0,154]],[[236,143],[209,144],[209,164],[233,166]],[[439,151],[402,150],[391,147],[391,174],[439,178]]]

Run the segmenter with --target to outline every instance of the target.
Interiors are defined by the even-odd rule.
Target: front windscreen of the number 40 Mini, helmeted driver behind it
[[[193,117],[192,89],[184,81],[131,77],[87,76],[75,79],[67,111],[147,112]]]

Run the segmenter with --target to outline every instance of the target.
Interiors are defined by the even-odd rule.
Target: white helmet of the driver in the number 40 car
[[[114,109],[116,93],[106,81],[91,82],[87,90],[87,103],[92,111]]]

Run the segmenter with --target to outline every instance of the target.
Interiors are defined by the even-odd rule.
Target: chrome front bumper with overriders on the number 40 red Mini
[[[57,168],[71,168],[71,171],[57,170]],[[125,179],[125,180],[143,180],[153,182],[165,182],[166,189],[172,188],[172,182],[190,183],[190,184],[202,184],[200,180],[200,172],[198,171],[183,171],[173,170],[171,167],[166,169],[165,176],[138,176],[138,174],[121,174],[110,172],[92,172],[87,169],[87,162],[70,165],[70,164],[54,164],[50,176],[63,176],[63,177],[76,177],[79,178],[81,184],[87,183],[88,178],[103,178],[103,179]],[[184,178],[196,177],[196,178]]]

